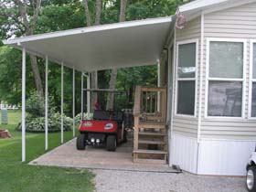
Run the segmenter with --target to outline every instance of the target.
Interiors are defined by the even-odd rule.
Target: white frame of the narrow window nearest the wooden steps
[[[197,117],[197,65],[198,65],[198,38],[194,38],[194,39],[189,39],[189,40],[184,40],[184,41],[177,41],[176,42],[176,98],[175,98],[175,116],[176,117],[187,117],[187,118],[196,118]],[[195,78],[178,78],[178,49],[180,45],[186,45],[186,44],[190,44],[190,43],[196,43],[196,63],[195,63]],[[189,114],[181,114],[181,113],[177,113],[177,95],[178,95],[178,80],[195,80],[195,104],[194,104],[194,115],[189,115]]]

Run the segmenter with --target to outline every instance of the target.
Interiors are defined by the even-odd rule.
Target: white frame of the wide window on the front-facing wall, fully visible
[[[217,42],[233,42],[243,43],[243,77],[241,79],[231,78],[209,78],[209,43],[212,41]],[[246,93],[246,65],[247,65],[247,40],[244,38],[222,38],[222,37],[208,37],[207,38],[207,53],[206,53],[206,94],[205,94],[205,118],[206,119],[219,119],[219,120],[241,120],[245,118],[245,93]],[[242,95],[241,95],[241,116],[240,117],[229,117],[229,116],[208,116],[208,81],[219,80],[219,81],[240,81],[242,83]]]

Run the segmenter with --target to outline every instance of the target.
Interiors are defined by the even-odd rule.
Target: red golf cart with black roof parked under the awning
[[[99,92],[99,90],[96,92]],[[121,93],[120,91],[107,92]],[[80,123],[79,131],[80,135],[77,138],[78,150],[84,150],[86,145],[92,145],[106,146],[108,151],[115,151],[118,144],[127,141],[123,112],[119,110],[94,110],[93,119],[83,120]]]

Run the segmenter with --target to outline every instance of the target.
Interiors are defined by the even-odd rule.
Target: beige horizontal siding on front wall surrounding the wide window
[[[256,3],[240,5],[205,15],[204,21],[203,91],[201,103],[201,137],[221,139],[256,139],[256,120],[249,114],[250,40],[256,38]],[[207,38],[243,38],[246,41],[244,63],[244,117],[235,119],[205,117],[207,101]]]

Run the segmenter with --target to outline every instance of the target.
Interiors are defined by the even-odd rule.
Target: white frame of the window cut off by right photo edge
[[[252,83],[256,82],[256,79],[253,79],[253,44],[256,44],[256,39],[251,39],[250,41],[250,74],[249,74],[249,106],[248,106],[248,119],[256,120],[256,117],[251,116],[251,104],[252,104]]]

